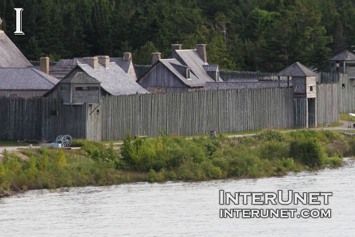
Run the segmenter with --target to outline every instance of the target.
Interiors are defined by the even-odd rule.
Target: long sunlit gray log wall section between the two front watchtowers
[[[293,127],[291,87],[107,96],[101,108],[103,141]]]

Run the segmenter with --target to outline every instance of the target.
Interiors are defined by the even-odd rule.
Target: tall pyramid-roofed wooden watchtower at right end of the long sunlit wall
[[[295,127],[316,127],[317,74],[296,62],[276,76],[279,84],[280,77],[287,77],[287,84],[292,79]]]

